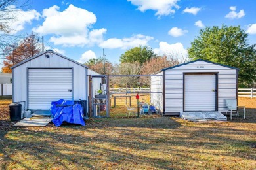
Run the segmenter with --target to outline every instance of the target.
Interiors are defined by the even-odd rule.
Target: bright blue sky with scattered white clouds
[[[12,34],[39,33],[47,48],[76,61],[102,56],[114,63],[135,46],[186,55],[203,27],[241,25],[256,42],[255,0],[32,0],[16,12]],[[51,46],[51,47],[50,47]]]

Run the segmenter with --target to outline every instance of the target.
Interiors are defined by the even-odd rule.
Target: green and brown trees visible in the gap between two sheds
[[[171,54],[158,56],[148,46],[131,48],[121,54],[120,63],[111,63],[106,60],[106,75],[151,75],[163,68],[171,67],[182,62],[181,59]],[[103,58],[90,59],[85,63],[97,73],[104,73]],[[110,86],[121,88],[137,88],[150,86],[150,77],[112,77]]]

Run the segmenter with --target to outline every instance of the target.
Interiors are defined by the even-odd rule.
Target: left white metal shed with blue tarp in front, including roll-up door
[[[26,109],[47,110],[51,101],[87,100],[88,68],[47,50],[12,69],[12,101],[25,102]]]

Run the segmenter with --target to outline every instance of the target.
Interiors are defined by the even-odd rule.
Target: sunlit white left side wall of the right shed
[[[163,75],[163,71],[156,75]],[[163,76],[151,76],[150,91],[163,92]],[[150,103],[163,112],[163,93],[150,93]]]

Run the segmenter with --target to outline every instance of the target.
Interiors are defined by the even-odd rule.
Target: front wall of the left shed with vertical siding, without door
[[[62,58],[54,53],[50,54],[49,58],[45,57],[45,54],[38,56],[18,67],[12,69],[13,75],[13,101],[26,101],[28,104],[28,92],[27,92],[27,71],[28,67],[70,67],[73,68],[73,91],[74,100],[87,99],[87,69],[78,65],[68,59]]]

